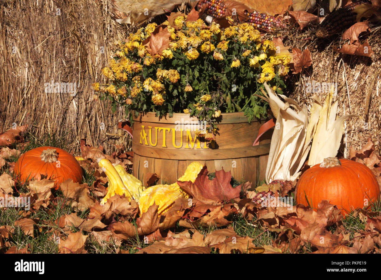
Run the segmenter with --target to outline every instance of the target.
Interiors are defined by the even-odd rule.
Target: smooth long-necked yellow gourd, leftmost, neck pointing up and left
[[[114,168],[112,163],[107,159],[101,159],[99,161],[99,167],[103,170],[103,172],[106,174],[107,179],[109,180],[109,186],[107,187],[107,194],[104,198],[101,199],[101,205],[104,205],[104,203],[107,202],[107,199],[114,196],[115,194],[118,195],[125,195],[128,200],[133,199],[133,195],[131,192],[127,189],[127,187],[123,184],[122,178],[120,178],[117,170]]]

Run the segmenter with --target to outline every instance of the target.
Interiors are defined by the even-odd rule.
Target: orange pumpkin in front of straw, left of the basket
[[[23,154],[14,165],[14,177],[21,182],[43,178],[55,180],[55,188],[67,180],[82,181],[82,168],[75,157],[55,147],[37,147]]]

